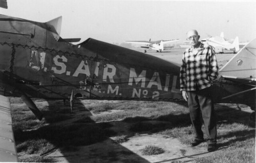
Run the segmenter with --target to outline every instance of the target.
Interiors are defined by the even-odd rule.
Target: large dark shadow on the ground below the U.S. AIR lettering
[[[27,157],[19,158],[19,161],[55,162],[54,158],[44,156],[49,151],[58,148],[64,155],[63,157],[69,162],[79,162],[79,157],[81,157],[81,160],[84,159],[83,154],[73,156],[65,155],[67,149],[73,149],[73,151],[78,152],[79,146],[89,146],[104,141],[107,142],[109,151],[115,151],[118,148],[121,154],[133,154],[133,160],[130,162],[148,162],[129,149],[112,141],[109,137],[116,135],[110,129],[112,125],[110,123],[95,123],[90,118],[92,115],[90,111],[80,101],[76,101],[72,114],[69,105],[63,105],[62,101],[48,101],[48,104],[48,109],[41,110],[44,114],[44,121],[48,125],[32,130],[23,130],[18,126],[13,129],[17,152],[28,154]],[[88,155],[88,153],[84,153],[84,155]],[[108,152],[106,154],[101,153],[95,155],[95,157],[99,160],[98,162],[111,162],[111,160],[125,161],[120,160],[118,155],[111,155]],[[87,160],[85,159],[85,161]]]

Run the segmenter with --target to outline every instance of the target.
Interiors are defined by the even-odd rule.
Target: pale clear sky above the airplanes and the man
[[[0,14],[47,22],[62,16],[62,38],[122,43],[131,40],[186,40],[219,36],[240,42],[256,38],[256,1],[7,0]],[[80,42],[81,42],[80,41]]]

